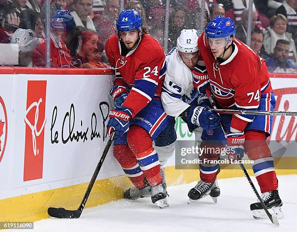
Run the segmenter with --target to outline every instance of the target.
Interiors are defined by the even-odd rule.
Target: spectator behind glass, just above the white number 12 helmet
[[[189,28],[189,12],[184,7],[175,8],[169,17],[168,51],[176,46],[176,40],[183,29]]]

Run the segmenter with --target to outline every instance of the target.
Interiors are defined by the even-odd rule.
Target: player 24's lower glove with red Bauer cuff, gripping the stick
[[[115,131],[115,135],[121,137],[129,130],[131,117],[131,109],[125,106],[115,106],[115,109],[109,112],[109,121],[107,123],[108,136],[111,136],[113,131]]]

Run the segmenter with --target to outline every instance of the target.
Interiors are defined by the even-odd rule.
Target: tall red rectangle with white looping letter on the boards
[[[47,81],[28,81],[24,181],[42,178]]]

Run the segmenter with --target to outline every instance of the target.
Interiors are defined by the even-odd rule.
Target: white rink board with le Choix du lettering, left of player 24
[[[103,117],[108,115],[106,104],[109,107],[113,106],[109,97],[112,75],[18,74],[1,75],[0,78],[4,83],[1,85],[0,96],[5,100],[9,128],[6,149],[0,162],[0,199],[88,182],[107,142],[107,140],[103,142]],[[37,120],[29,119],[26,122],[28,103],[32,106],[28,112],[33,116],[37,109],[38,102],[36,101],[35,104],[34,101],[30,102],[27,93],[28,83],[34,81],[46,83],[46,97],[38,105]],[[38,85],[36,85],[36,89],[31,88],[30,91],[44,92],[40,91]],[[106,102],[101,105],[101,110],[100,102],[101,104]],[[40,109],[43,103],[45,103],[45,112]],[[71,104],[73,104],[72,109]],[[54,110],[55,107],[56,110]],[[69,120],[67,114],[70,114],[70,111],[71,118]],[[96,131],[94,114],[97,119]],[[75,122],[73,122],[74,118]],[[93,119],[93,127],[91,119]],[[44,121],[45,124],[42,127]],[[30,130],[30,133],[26,134],[28,122],[31,124],[33,132]],[[64,142],[62,141],[62,128]],[[69,133],[72,128],[73,132]],[[100,137],[93,136],[94,138],[91,140],[92,128],[93,135],[99,133]],[[44,153],[41,165],[38,163],[36,166],[41,166],[41,178],[34,176],[34,164],[31,164],[32,170],[29,170],[29,172],[33,172],[31,180],[25,180],[24,163],[25,156],[28,155],[25,155],[25,146],[26,144],[29,147],[33,146],[35,138],[37,142],[34,156],[38,157],[41,154],[38,153],[41,136],[38,134],[40,132],[44,132],[44,139],[41,141],[44,145]],[[58,136],[54,139],[56,132]],[[86,133],[86,135],[80,137],[78,142],[75,139],[73,141],[69,139],[66,142],[69,134],[73,137],[77,135],[77,132]],[[2,137],[0,137],[1,141]],[[83,141],[85,137],[87,140]],[[108,153],[105,164],[108,165],[102,166],[98,179],[123,174],[112,152]]]

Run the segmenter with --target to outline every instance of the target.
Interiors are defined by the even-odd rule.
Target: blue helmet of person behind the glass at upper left
[[[50,17],[50,25],[53,31],[71,32],[75,28],[73,16],[70,11],[58,10]]]

